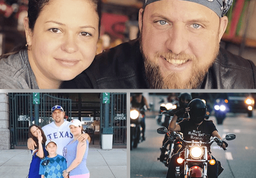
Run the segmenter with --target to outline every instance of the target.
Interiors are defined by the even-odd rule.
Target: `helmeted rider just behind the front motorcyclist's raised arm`
[[[189,94],[189,93],[182,93],[179,95],[179,106],[177,106],[177,109],[174,110],[175,111],[179,111],[179,109],[182,109],[182,108],[186,108],[188,106],[188,103],[192,100],[192,96]],[[178,121],[182,121],[183,118],[187,118],[188,117],[188,114],[187,113],[184,113],[184,115],[180,115],[178,117]],[[168,122],[169,123],[169,122]],[[164,141],[163,141],[163,145],[167,142],[168,140],[168,136],[167,134],[165,134],[164,136]],[[175,148],[174,149],[174,153],[176,153],[177,151],[179,150],[179,148]],[[163,162],[164,161],[164,158],[165,158],[165,152],[167,151],[167,145],[166,147],[162,147],[161,148],[161,155],[160,155],[160,161]]]

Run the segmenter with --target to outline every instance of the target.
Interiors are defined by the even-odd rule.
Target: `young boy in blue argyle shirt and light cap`
[[[62,172],[67,169],[63,156],[57,154],[57,144],[54,140],[47,140],[45,149],[49,155],[40,162],[39,175],[41,178],[63,178]]]

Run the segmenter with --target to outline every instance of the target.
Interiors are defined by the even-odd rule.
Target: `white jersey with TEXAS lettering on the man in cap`
[[[45,132],[46,139],[56,141],[57,154],[61,156],[63,156],[64,146],[66,146],[73,139],[73,135],[71,134],[68,125],[69,122],[64,121],[61,126],[56,126],[54,122],[51,122],[42,127],[43,131]]]

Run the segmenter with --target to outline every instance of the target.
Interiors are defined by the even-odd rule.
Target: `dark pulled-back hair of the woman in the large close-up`
[[[42,9],[45,7],[45,5],[51,3],[52,0],[29,0],[28,3],[28,15],[27,17],[29,18],[29,28],[31,32],[34,30],[34,26],[36,23],[36,20],[41,13]],[[100,25],[101,25],[101,0],[89,0],[91,3],[93,3],[95,7],[95,11],[98,14],[99,17],[99,23],[98,23],[98,32],[100,32]],[[100,34],[100,33],[99,33]],[[18,46],[17,48],[13,49],[12,52],[1,55],[0,59],[2,58],[7,58],[10,55],[16,54],[21,50],[27,49],[25,45]]]

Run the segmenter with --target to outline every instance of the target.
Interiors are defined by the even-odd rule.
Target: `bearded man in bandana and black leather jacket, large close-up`
[[[256,89],[256,66],[220,49],[232,0],[146,0],[140,38],[95,57],[64,88]]]

